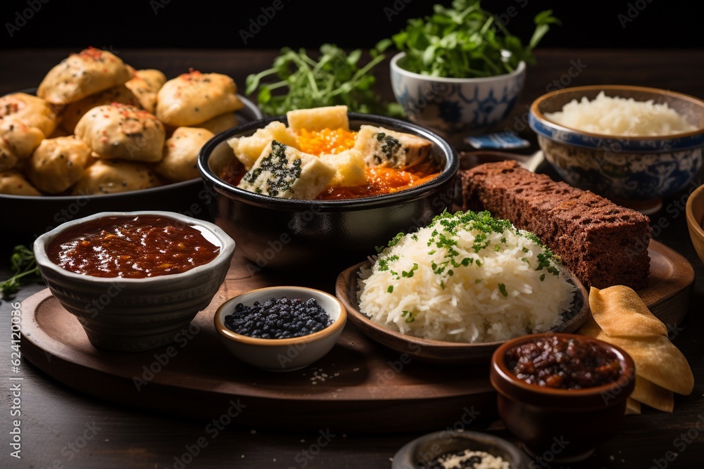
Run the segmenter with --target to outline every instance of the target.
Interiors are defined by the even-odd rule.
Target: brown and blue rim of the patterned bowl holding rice
[[[603,141],[626,141],[626,142],[636,142],[636,141],[674,141],[677,139],[682,139],[686,137],[692,137],[692,136],[697,136],[700,134],[704,134],[704,124],[700,124],[700,126],[693,130],[693,131],[686,131],[686,132],[680,132],[679,134],[671,134],[671,135],[660,135],[660,136],[620,136],[620,135],[609,135],[609,134],[598,134],[596,132],[590,132],[590,131],[584,131],[584,130],[579,130],[579,129],[574,129],[573,127],[566,127],[562,124],[558,124],[557,122],[553,122],[552,120],[549,120],[543,113],[541,112],[540,105],[544,101],[546,101],[549,98],[553,98],[555,96],[560,96],[562,94],[567,94],[567,93],[575,93],[575,94],[580,94],[584,93],[584,91],[619,91],[619,90],[629,90],[629,91],[643,91],[643,92],[648,92],[648,93],[653,93],[653,94],[658,94],[660,96],[675,96],[677,98],[684,99],[684,101],[689,101],[693,104],[698,105],[700,108],[702,108],[704,112],[704,100],[697,98],[696,96],[691,96],[689,94],[684,94],[680,93],[679,91],[670,91],[667,89],[662,89],[662,88],[653,88],[650,86],[634,86],[634,85],[622,85],[622,84],[593,84],[593,85],[585,85],[585,86],[571,86],[569,88],[562,88],[562,89],[556,89],[554,91],[549,91],[546,94],[543,94],[536,98],[533,103],[530,105],[530,115],[543,124],[545,127],[551,127],[553,129],[556,129],[558,131],[564,132],[564,133],[570,133],[573,135],[580,135],[580,136],[587,136],[587,137],[592,137],[594,139],[601,139]],[[535,129],[534,129],[535,130]],[[550,136],[546,136],[548,139],[552,139]],[[700,145],[699,145],[700,146]],[[588,147],[591,148],[591,147]]]

